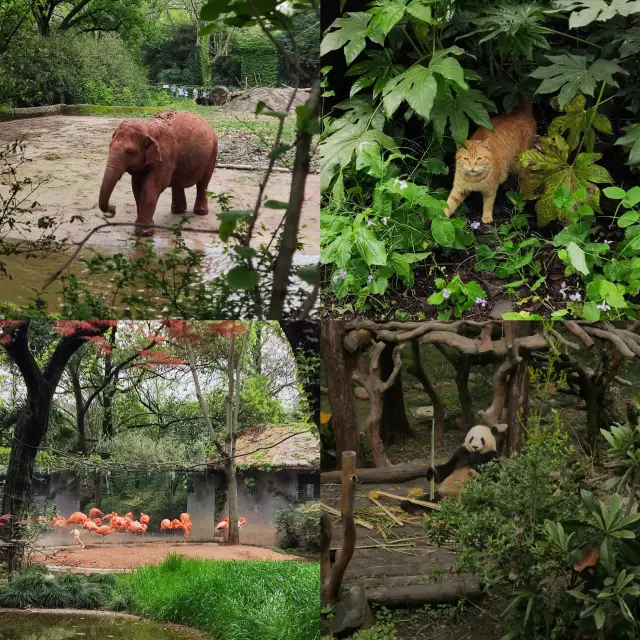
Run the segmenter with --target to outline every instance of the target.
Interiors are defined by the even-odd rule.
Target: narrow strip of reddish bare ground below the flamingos
[[[160,564],[169,553],[202,560],[300,560],[299,557],[278,553],[262,547],[227,546],[216,543],[139,542],[127,545],[92,544],[84,549],[62,549],[42,553],[34,558],[50,566],[81,567],[85,569],[133,569],[143,564]]]

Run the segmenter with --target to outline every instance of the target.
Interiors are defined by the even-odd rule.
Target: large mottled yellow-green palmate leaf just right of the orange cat
[[[587,192],[585,204],[600,212],[600,189],[596,183],[612,183],[609,172],[597,164],[599,153],[581,153],[569,164],[569,145],[560,136],[540,138],[539,148],[523,151],[518,161],[528,171],[523,176],[520,192],[529,200],[536,200],[538,225],[544,227],[552,220],[561,218],[561,211],[554,202],[560,187],[569,193],[584,187]]]

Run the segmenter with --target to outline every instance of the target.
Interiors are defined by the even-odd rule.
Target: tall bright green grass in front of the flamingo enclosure
[[[196,627],[215,640],[317,640],[320,566],[169,556],[118,576],[120,607]]]

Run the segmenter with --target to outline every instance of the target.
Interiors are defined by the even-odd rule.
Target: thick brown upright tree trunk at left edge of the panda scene
[[[357,466],[363,467],[358,420],[353,403],[351,366],[342,346],[344,326],[341,320],[325,320],[322,323],[322,363],[331,405],[331,424],[336,441],[338,468],[345,451],[357,452]]]

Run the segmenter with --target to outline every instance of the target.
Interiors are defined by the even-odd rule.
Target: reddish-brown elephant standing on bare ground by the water
[[[160,194],[171,187],[171,211],[184,213],[184,190],[196,185],[193,212],[208,213],[207,187],[218,156],[218,138],[202,117],[187,111],[160,113],[146,120],[125,120],[109,144],[109,159],[100,187],[100,210],[115,213],[109,198],[125,171],[131,174],[136,200],[135,233],[152,236],[153,214]]]

